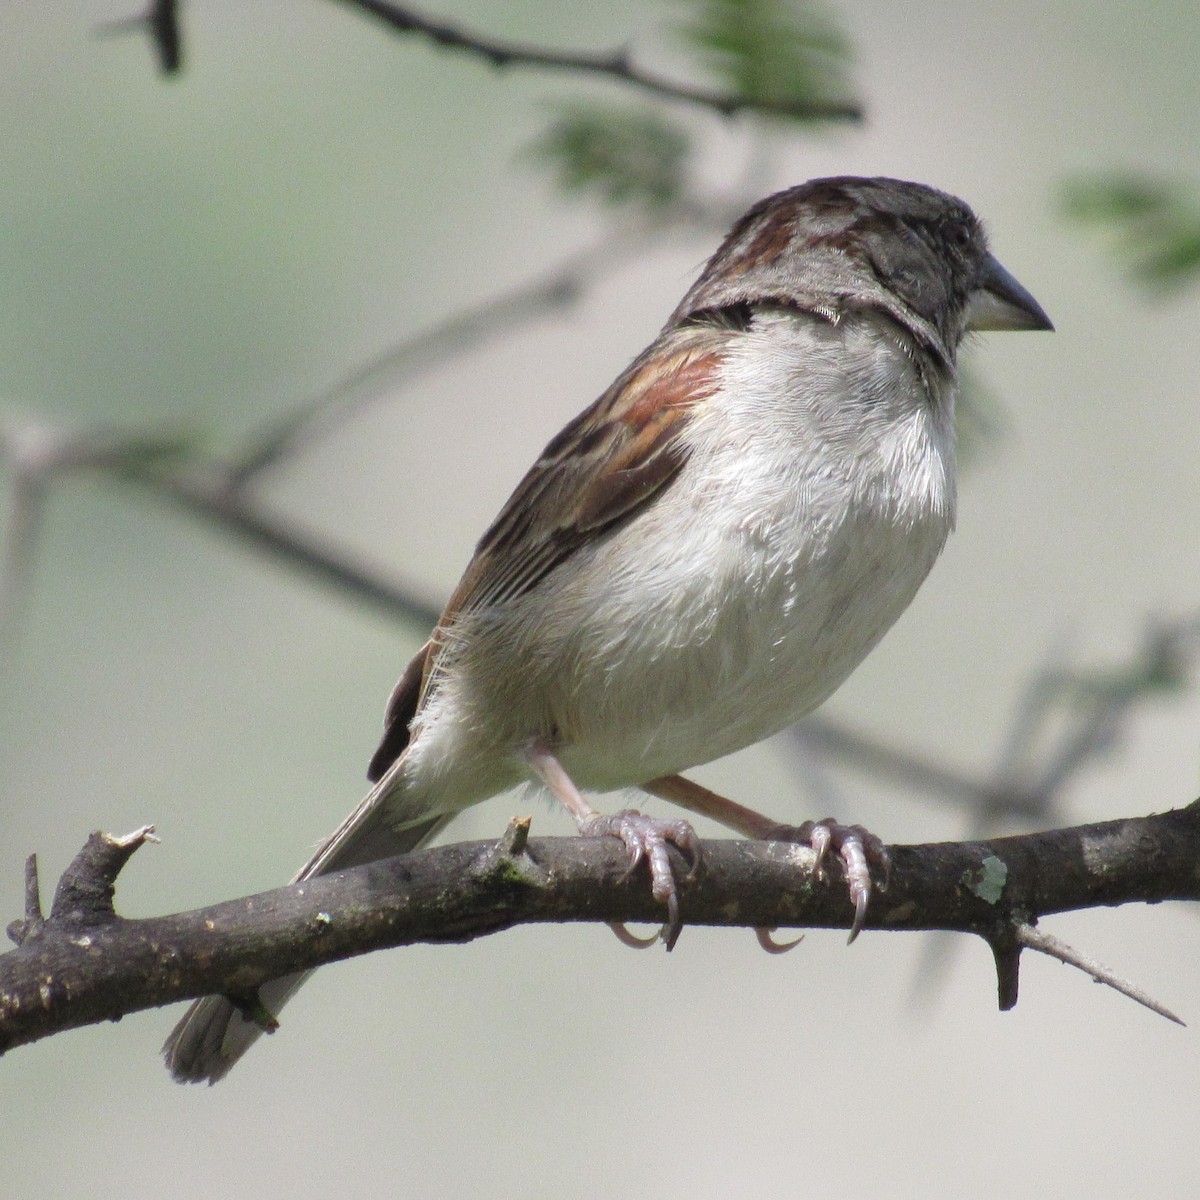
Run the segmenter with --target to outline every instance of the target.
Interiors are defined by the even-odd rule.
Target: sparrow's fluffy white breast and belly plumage
[[[580,786],[613,788],[761,740],[862,661],[954,522],[952,382],[923,380],[882,318],[756,318],[686,436],[643,512],[458,659],[414,773],[474,758],[486,794],[499,756],[548,734]]]

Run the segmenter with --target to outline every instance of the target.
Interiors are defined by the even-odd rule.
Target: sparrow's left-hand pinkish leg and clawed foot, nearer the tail
[[[553,750],[544,742],[534,742],[526,749],[526,761],[534,775],[575,817],[575,824],[583,836],[619,838],[629,852],[630,871],[646,859],[650,869],[650,894],[667,906],[667,919],[660,936],[670,950],[678,940],[683,925],[679,919],[679,893],[671,870],[667,844],[683,851],[691,859],[691,871],[695,871],[700,865],[700,839],[691,826],[686,821],[664,821],[643,816],[630,809],[614,812],[612,816],[596,812],[563,769]],[[616,931],[626,944],[640,942],[624,926]]]

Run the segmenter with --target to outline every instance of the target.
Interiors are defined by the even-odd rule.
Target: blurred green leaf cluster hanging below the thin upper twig
[[[676,125],[644,109],[574,104],[530,146],[564,192],[661,211],[683,191],[691,146]]]

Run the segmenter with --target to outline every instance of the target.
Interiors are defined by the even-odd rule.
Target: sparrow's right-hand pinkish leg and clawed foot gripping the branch
[[[804,842],[811,846],[817,856],[816,868],[818,872],[829,851],[836,851],[846,874],[850,899],[854,905],[854,920],[850,926],[850,941],[858,937],[863,922],[866,919],[866,905],[871,898],[871,866],[882,871],[881,889],[888,886],[892,859],[888,857],[887,847],[875,834],[862,826],[845,826],[834,821],[833,817],[826,817],[823,821],[805,821],[799,826],[780,824],[761,812],[755,812],[754,809],[736,804],[724,796],[718,796],[716,792],[710,792],[707,787],[701,787],[700,784],[694,784],[690,779],[684,779],[683,775],[664,775],[661,779],[652,779],[648,784],[643,784],[642,788],[691,812],[712,817],[748,838],[763,841]]]

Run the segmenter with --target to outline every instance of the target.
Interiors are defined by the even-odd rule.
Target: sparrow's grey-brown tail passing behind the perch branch
[[[298,872],[293,883],[359,866],[379,858],[391,858],[416,850],[450,820],[436,816],[418,824],[394,829],[385,816],[383,800],[392,790],[391,772],[367,793],[362,803],[342,822]],[[311,972],[271,979],[258,989],[262,1007],[272,1016],[292,998]],[[263,1032],[227,996],[205,996],[196,1001],[172,1030],[162,1048],[167,1068],[180,1084],[215,1084],[250,1049]]]

